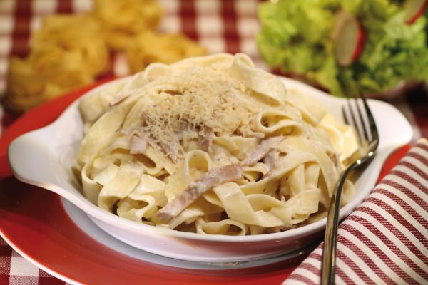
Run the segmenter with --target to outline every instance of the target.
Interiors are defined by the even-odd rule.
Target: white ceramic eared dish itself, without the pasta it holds
[[[123,79],[120,79],[123,80]],[[335,98],[304,83],[282,78],[288,89],[316,98],[338,120],[344,99]],[[98,86],[85,96],[108,88],[118,81]],[[379,130],[379,149],[370,166],[356,182],[356,195],[340,210],[346,217],[369,194],[385,158],[412,138],[412,128],[397,109],[387,103],[370,100],[370,108]],[[206,262],[250,261],[286,254],[322,237],[326,219],[304,227],[275,234],[245,237],[204,235],[152,227],[106,212],[85,199],[73,179],[71,165],[83,134],[78,101],[72,103],[51,125],[16,138],[9,146],[9,162],[23,182],[46,188],[82,209],[98,227],[133,247],[175,259]]]

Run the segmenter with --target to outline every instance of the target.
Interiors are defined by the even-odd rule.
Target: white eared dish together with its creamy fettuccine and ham
[[[359,150],[343,102],[240,53],[153,63],[14,140],[9,161],[19,180],[58,193],[138,249],[189,261],[266,259],[322,235],[335,182]],[[412,138],[398,110],[369,104],[379,152],[346,182],[341,218]]]

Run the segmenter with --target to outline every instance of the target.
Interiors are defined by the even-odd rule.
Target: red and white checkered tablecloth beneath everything
[[[247,53],[256,65],[267,68],[258,55],[258,0],[160,0],[165,8],[161,30],[182,32],[206,46],[210,53]],[[10,56],[25,56],[29,37],[43,16],[54,13],[80,13],[91,10],[91,0],[0,0],[0,95],[6,88]],[[113,73],[128,73],[126,58],[114,58]],[[394,102],[414,128],[414,138],[428,137],[428,96],[417,90]],[[0,105],[1,128],[15,119]],[[0,284],[64,284],[37,269],[0,239]]]

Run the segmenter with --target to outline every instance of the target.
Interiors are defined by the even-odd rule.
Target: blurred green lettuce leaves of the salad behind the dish
[[[428,13],[404,21],[403,1],[279,0],[259,5],[262,24],[257,43],[272,67],[305,76],[343,95],[343,86],[383,93],[400,82],[428,81]],[[332,31],[337,11],[347,11],[365,30],[360,57],[337,65]]]

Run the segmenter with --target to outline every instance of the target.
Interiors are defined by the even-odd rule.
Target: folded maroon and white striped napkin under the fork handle
[[[428,284],[428,140],[340,224],[336,284]],[[320,244],[282,283],[320,284]]]

